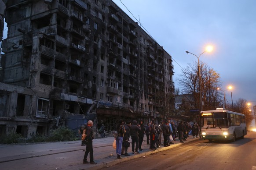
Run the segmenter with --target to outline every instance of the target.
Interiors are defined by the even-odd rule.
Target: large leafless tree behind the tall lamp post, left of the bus
[[[221,87],[220,76],[213,68],[200,61],[201,68],[201,94],[204,102],[203,110],[214,110],[219,106],[220,92],[217,90]],[[189,64],[182,69],[182,74],[177,79],[182,87],[181,92],[184,94],[193,94],[195,107],[199,108],[199,85],[197,63]]]

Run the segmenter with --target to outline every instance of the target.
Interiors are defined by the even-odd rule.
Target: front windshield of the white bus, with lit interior
[[[203,128],[228,128],[227,113],[201,113],[201,125]]]

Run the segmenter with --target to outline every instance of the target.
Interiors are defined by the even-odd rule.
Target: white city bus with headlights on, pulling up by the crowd
[[[212,140],[232,140],[247,135],[245,115],[225,108],[200,112],[201,138]]]

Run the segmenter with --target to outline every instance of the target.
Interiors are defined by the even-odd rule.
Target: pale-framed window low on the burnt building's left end
[[[36,117],[47,118],[49,100],[44,98],[37,98],[37,115]]]

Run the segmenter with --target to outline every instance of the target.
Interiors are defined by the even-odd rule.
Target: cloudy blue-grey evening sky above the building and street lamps
[[[113,0],[172,56],[173,81],[182,67],[200,60],[220,74],[223,90],[256,105],[256,0]],[[128,8],[129,11],[124,7]],[[231,91],[226,91],[231,103]]]

